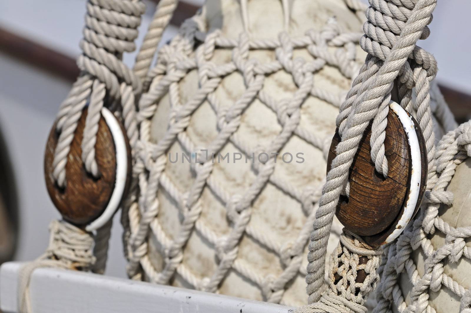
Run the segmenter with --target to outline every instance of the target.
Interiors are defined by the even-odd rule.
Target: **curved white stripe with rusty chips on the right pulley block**
[[[409,143],[409,151],[411,152],[412,170],[410,173],[410,189],[406,196],[407,200],[406,205],[404,206],[404,212],[399,219],[394,231],[388,236],[388,238],[386,238],[386,243],[390,243],[394,241],[394,239],[398,238],[398,236],[402,233],[402,231],[404,231],[407,224],[411,220],[415,211],[415,206],[417,205],[417,201],[419,199],[421,188],[420,181],[422,174],[422,156],[420,152],[419,140],[417,138],[417,132],[415,131],[414,121],[412,120],[411,116],[408,115],[407,112],[396,102],[391,101],[389,106],[392,111],[398,115],[399,121],[406,131],[407,141]]]

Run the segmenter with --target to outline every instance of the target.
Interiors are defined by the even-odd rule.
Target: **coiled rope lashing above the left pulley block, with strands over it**
[[[89,114],[82,141],[82,160],[87,172],[99,177],[95,161],[95,143],[101,107],[121,111],[131,147],[138,138],[133,97],[141,89],[139,78],[122,63],[122,54],[133,51],[140,16],[145,12],[142,1],[89,0],[82,54],[77,60],[81,75],[74,83],[57,114],[57,132],[60,133],[54,156],[53,176],[60,188],[66,187],[65,165],[77,122],[87,105]],[[107,97],[107,98],[106,98]],[[105,104],[106,101],[106,104]]]

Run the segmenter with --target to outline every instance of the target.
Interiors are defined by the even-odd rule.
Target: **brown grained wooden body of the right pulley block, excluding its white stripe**
[[[425,191],[427,157],[425,142],[417,122],[413,119],[422,155],[422,177],[417,213]],[[338,130],[337,130],[338,131]],[[410,189],[411,152],[398,116],[390,109],[384,140],[385,155],[388,160],[388,177],[376,172],[370,156],[371,124],[366,128],[360,141],[357,154],[350,167],[349,198],[341,196],[336,209],[339,221],[346,229],[361,236],[371,246],[380,246],[394,231],[404,212],[406,195]],[[332,140],[327,159],[327,173],[336,156],[335,148],[341,138],[338,132]]]

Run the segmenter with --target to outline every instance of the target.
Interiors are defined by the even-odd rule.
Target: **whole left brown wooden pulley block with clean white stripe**
[[[95,144],[99,177],[87,173],[82,162],[81,142],[87,108],[82,112],[65,166],[66,185],[60,188],[53,173],[54,152],[59,134],[52,126],[44,157],[46,187],[62,217],[86,231],[103,226],[119,207],[129,186],[131,154],[122,124],[108,109],[101,110]]]

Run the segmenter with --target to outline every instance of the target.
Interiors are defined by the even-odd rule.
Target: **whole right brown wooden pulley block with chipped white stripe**
[[[338,130],[337,130],[338,131]],[[370,156],[371,124],[366,128],[349,172],[349,197],[341,196],[336,215],[346,229],[378,247],[396,239],[417,213],[427,177],[427,149],[419,125],[397,103],[390,103],[385,155],[388,176],[375,170]],[[327,173],[341,141],[335,133]]]

